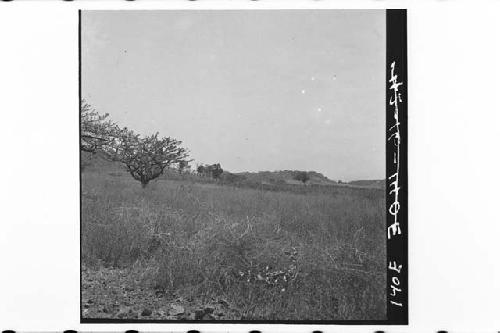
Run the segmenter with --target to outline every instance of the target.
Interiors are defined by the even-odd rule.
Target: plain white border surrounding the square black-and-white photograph
[[[282,331],[271,325],[79,324],[77,13],[84,9],[408,8],[408,327],[498,330],[497,1],[0,3],[0,328]]]

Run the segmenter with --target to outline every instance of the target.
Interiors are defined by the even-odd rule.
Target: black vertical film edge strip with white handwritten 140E
[[[387,309],[408,324],[408,80],[406,11],[387,11]]]

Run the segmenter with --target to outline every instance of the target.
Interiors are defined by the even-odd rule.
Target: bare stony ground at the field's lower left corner
[[[82,316],[86,319],[240,319],[223,299],[200,301],[145,287],[131,269],[82,269]]]

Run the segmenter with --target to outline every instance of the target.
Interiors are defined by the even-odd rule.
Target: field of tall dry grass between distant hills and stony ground
[[[127,290],[145,290],[134,297],[161,294],[161,304],[223,300],[222,320],[385,319],[383,191],[166,178],[142,189],[124,172],[83,171],[86,274],[120,272],[136,286]],[[88,276],[84,284],[98,280]],[[104,296],[85,290],[84,317],[122,318],[119,296],[101,311]],[[148,318],[162,318],[146,303]]]

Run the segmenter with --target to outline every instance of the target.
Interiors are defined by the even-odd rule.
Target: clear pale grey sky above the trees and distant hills
[[[83,11],[82,96],[231,172],[385,178],[385,11]]]

